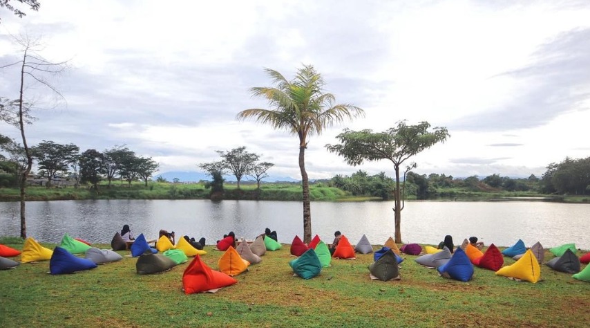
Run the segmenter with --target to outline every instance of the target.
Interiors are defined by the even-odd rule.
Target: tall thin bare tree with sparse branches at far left
[[[46,86],[52,93],[58,95],[59,98],[65,99],[63,95],[55,87],[45,80],[44,76],[56,75],[66,69],[66,62],[49,62],[44,57],[39,55],[41,44],[39,39],[32,39],[28,35],[15,38],[17,44],[21,46],[22,57],[17,62],[1,66],[0,69],[6,69],[9,66],[20,66],[20,84],[19,84],[19,98],[13,102],[14,106],[18,107],[18,127],[21,130],[21,138],[23,140],[23,148],[26,155],[26,166],[21,175],[20,181],[20,201],[21,201],[21,238],[27,237],[26,219],[25,219],[25,196],[26,196],[26,181],[27,176],[32,168],[31,149],[28,147],[25,125],[27,123],[28,111],[31,109],[30,102],[25,101],[25,89],[30,84],[41,84]]]

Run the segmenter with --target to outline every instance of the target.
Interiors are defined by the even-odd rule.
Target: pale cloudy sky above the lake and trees
[[[266,68],[292,79],[311,64],[336,102],[365,116],[310,138],[310,179],[393,176],[389,161],[352,167],[325,145],[345,128],[400,120],[450,134],[408,160],[417,174],[541,176],[590,156],[589,1],[41,0],[38,12],[12,3],[27,15],[0,8],[0,66],[22,57],[19,35],[68,63],[47,77],[63,99],[28,83],[29,145],[125,145],[159,172],[199,171],[220,160],[216,150],[245,146],[274,163],[272,176],[301,179],[297,136],[236,114],[270,108],[249,91],[273,86]],[[1,69],[0,96],[18,90],[19,68]],[[0,134],[20,140],[9,125]]]

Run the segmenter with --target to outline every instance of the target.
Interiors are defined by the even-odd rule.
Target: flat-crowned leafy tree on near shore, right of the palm
[[[418,125],[406,125],[406,121],[397,123],[383,132],[373,132],[370,129],[352,131],[344,129],[336,136],[339,145],[326,145],[330,152],[343,156],[349,165],[361,165],[363,161],[379,161],[387,159],[393,163],[395,170],[395,189],[393,208],[395,214],[395,242],[401,243],[401,210],[405,206],[403,193],[400,188],[400,167],[408,158],[428,149],[439,142],[444,142],[449,134],[445,127],[435,127],[428,131],[430,124],[420,122]],[[406,168],[404,175],[416,167],[415,163]],[[405,182],[406,179],[403,179]]]

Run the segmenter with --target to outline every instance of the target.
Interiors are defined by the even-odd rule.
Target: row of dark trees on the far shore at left
[[[24,148],[15,140],[0,135],[0,187],[16,187],[25,172],[27,158]],[[144,181],[146,186],[152,174],[158,170],[158,163],[151,157],[137,156],[124,146],[115,146],[99,152],[87,149],[80,153],[79,147],[43,140],[31,147],[32,158],[37,163],[40,179],[47,179],[50,188],[56,179],[73,179],[75,187],[90,184],[98,188],[99,182]]]

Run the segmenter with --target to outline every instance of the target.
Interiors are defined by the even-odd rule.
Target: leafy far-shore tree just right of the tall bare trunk
[[[68,170],[68,166],[74,160],[79,150],[79,147],[73,143],[61,145],[46,140],[43,140],[42,143],[32,148],[32,154],[37,159],[39,169],[47,171],[47,188],[51,187],[51,180],[57,172]]]

